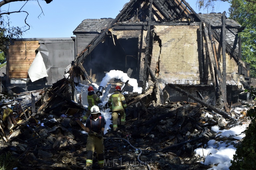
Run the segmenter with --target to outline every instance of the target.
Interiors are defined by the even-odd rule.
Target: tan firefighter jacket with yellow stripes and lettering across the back
[[[115,90],[115,93],[109,97],[108,106],[112,112],[127,108],[124,95],[120,91]]]

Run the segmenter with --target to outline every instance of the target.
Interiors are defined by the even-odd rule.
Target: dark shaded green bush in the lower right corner
[[[249,90],[253,99],[255,98],[255,88]],[[245,137],[242,144],[237,148],[236,154],[233,156],[232,165],[229,169],[256,169],[256,107],[247,111],[247,116],[250,117],[251,123],[245,130]]]

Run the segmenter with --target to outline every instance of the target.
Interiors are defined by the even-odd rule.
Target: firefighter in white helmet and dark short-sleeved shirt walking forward
[[[89,134],[87,137],[87,158],[86,158],[86,167],[83,169],[91,170],[92,169],[92,160],[94,150],[98,155],[98,165],[100,169],[104,169],[104,144],[103,144],[103,135],[105,128],[104,118],[99,116],[101,115],[100,109],[98,106],[94,105],[91,107],[91,116],[88,117],[85,125],[85,131]]]

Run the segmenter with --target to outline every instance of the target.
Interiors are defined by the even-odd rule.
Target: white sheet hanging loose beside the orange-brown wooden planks
[[[44,77],[48,77],[45,68],[45,63],[43,61],[40,51],[37,53],[34,61],[31,63],[28,69],[28,75],[32,82]]]

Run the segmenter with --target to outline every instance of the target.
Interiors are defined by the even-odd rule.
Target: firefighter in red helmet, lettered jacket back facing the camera
[[[112,110],[113,130],[116,131],[118,114],[121,116],[121,125],[124,125],[127,113],[127,105],[120,86],[115,87],[115,92],[109,97],[108,106]]]

